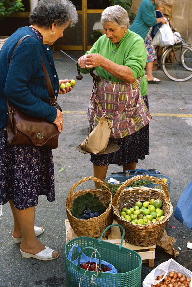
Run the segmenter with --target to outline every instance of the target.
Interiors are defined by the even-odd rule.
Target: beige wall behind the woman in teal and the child
[[[142,0],[133,0],[131,12],[137,14],[137,10]],[[163,0],[165,16],[171,17],[170,23],[177,28],[177,32],[186,43],[192,45],[192,5],[191,0]]]

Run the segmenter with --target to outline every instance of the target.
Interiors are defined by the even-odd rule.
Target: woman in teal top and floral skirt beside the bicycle
[[[167,23],[167,20],[164,17],[156,18],[155,8],[156,4],[154,0],[143,0],[139,6],[135,20],[129,28],[131,31],[140,35],[145,41],[146,50],[148,53],[146,74],[148,76],[149,83],[161,82],[160,79],[153,76],[153,61],[156,59],[156,54],[152,44],[150,30],[152,30],[152,26],[156,25],[157,23]]]

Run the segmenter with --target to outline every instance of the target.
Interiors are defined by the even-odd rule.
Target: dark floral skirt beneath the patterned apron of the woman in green
[[[148,105],[148,96],[143,96]],[[117,152],[104,155],[92,155],[91,162],[96,165],[104,166],[108,164],[128,165],[129,162],[138,162],[138,159],[144,160],[145,155],[149,154],[149,124],[139,129],[135,133],[116,139],[120,149]],[[115,142],[114,138],[110,138],[109,142]]]

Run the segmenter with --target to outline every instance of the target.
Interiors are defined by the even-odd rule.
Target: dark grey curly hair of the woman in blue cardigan
[[[40,0],[29,15],[31,25],[49,28],[53,23],[73,27],[78,21],[75,6],[69,0]]]

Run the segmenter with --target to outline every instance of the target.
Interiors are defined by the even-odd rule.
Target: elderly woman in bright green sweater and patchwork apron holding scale
[[[83,73],[88,73],[87,70],[93,68],[101,76],[99,98],[106,115],[119,113],[119,118],[116,118],[116,124],[113,125],[115,138],[111,134],[110,141],[117,140],[120,150],[91,156],[94,176],[103,180],[109,164],[123,166],[124,171],[135,169],[138,159],[144,159],[149,154],[148,123],[151,117],[148,113],[147,79],[144,75],[147,53],[143,39],[128,29],[127,11],[119,5],[107,7],[103,11],[101,24],[105,34],[94,43],[90,51],[78,59],[78,63]],[[139,81],[135,82],[136,79]],[[140,84],[137,86],[138,93],[141,92],[141,102],[147,114],[142,117],[141,111],[137,110],[137,119],[140,121],[138,125],[136,118],[134,123],[127,112],[132,100],[130,90],[132,91],[134,83]],[[94,94],[90,99],[88,119],[92,114],[93,102]],[[104,114],[102,108],[98,105],[97,119]],[[95,186],[99,188],[96,182]]]

